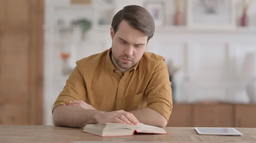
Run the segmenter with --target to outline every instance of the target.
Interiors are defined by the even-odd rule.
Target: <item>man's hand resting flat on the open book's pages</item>
[[[125,123],[130,125],[138,125],[140,123],[132,113],[123,110],[100,112],[95,118],[97,123]]]

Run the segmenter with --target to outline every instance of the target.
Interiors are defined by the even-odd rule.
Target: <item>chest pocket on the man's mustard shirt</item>
[[[128,112],[134,111],[143,107],[147,107],[147,100],[144,92],[140,94],[131,94],[125,98],[125,107]]]

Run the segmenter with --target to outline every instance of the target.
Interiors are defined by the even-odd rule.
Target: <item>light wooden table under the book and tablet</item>
[[[198,135],[194,128],[165,128],[167,135],[99,137],[82,129],[56,126],[0,125],[0,143],[72,143],[74,141],[166,142],[166,143],[256,143],[256,128],[236,128],[243,136]]]

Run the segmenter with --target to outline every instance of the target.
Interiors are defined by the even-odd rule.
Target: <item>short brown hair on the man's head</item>
[[[125,6],[118,11],[113,17],[111,27],[114,33],[118,30],[118,26],[122,20],[125,20],[131,27],[140,30],[148,36],[148,40],[154,35],[154,19],[151,14],[143,7],[136,5]]]

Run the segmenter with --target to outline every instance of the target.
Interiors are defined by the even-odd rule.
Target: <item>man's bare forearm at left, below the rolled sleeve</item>
[[[81,128],[86,124],[96,124],[95,115],[99,112],[97,110],[58,106],[53,110],[52,118],[55,126]]]

